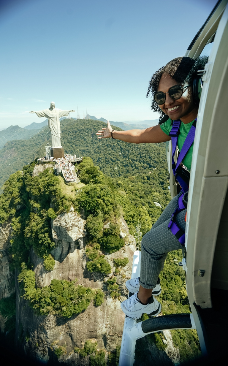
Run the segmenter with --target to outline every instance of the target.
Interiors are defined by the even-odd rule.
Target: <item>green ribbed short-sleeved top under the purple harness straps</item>
[[[177,139],[177,146],[178,149],[181,151],[182,146],[184,145],[184,141],[187,137],[188,132],[190,131],[190,128],[193,124],[194,120],[192,122],[189,122],[187,124],[184,124],[183,122],[181,122],[180,124],[180,134],[178,135],[178,139]],[[160,125],[161,129],[163,132],[165,132],[165,134],[169,135],[169,132],[171,131],[171,119],[169,118],[165,123],[162,123]],[[182,163],[186,166],[186,168],[188,169],[188,171],[191,170],[191,160],[193,157],[193,144],[191,145],[190,149],[188,150],[186,156],[183,158]]]

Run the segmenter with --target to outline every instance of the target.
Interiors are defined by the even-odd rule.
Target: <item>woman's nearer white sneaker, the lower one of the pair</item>
[[[120,304],[124,314],[130,318],[139,319],[144,313],[150,317],[155,317],[161,313],[161,304],[153,296],[149,299],[148,304],[143,305],[139,301],[137,294],[138,292]]]

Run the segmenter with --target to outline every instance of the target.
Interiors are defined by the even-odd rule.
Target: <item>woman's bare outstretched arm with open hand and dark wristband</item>
[[[111,137],[112,127],[108,121],[108,127],[102,128],[97,132],[98,138]],[[145,130],[128,130],[128,131],[113,131],[112,136],[115,139],[132,142],[132,143],[156,143],[171,140],[171,137],[161,130],[159,124],[154,127],[146,128]]]

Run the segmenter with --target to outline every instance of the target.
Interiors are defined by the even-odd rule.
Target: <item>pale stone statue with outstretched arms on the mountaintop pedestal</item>
[[[36,113],[38,117],[48,118],[48,126],[51,131],[52,137],[52,149],[62,148],[61,146],[61,131],[60,131],[60,117],[68,116],[69,112],[75,111],[63,111],[62,109],[55,108],[55,102],[51,102],[51,107],[44,109],[43,111],[31,111],[29,113]]]

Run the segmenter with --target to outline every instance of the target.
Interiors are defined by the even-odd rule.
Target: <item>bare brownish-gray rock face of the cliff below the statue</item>
[[[120,300],[123,301],[127,296],[124,283],[126,278],[131,276],[135,240],[128,234],[127,224],[123,218],[120,219],[120,232],[128,237],[127,245],[113,254],[106,254],[105,259],[111,265],[112,271],[115,271],[113,258],[129,259],[124,270],[117,275],[117,283],[122,290]],[[60,360],[67,364],[82,365],[82,359],[73,352],[74,347],[81,348],[85,341],[90,339],[97,341],[98,349],[114,350],[121,343],[124,314],[120,309],[120,301],[113,300],[109,295],[104,276],[90,273],[86,269],[85,220],[73,210],[61,214],[52,221],[52,235],[56,243],[52,251],[55,259],[53,271],[47,272],[43,259],[39,258],[33,249],[30,252],[36,284],[44,287],[49,285],[52,279],[68,281],[77,279],[78,284],[104,291],[106,295],[104,303],[94,307],[91,302],[87,310],[70,319],[57,318],[55,315],[38,316],[20,297],[17,285],[16,339],[18,346],[21,344],[27,355],[44,362],[56,358],[53,352],[56,345],[66,345],[66,355],[61,356]],[[83,362],[88,364],[88,359],[85,358]]]

